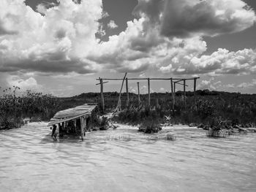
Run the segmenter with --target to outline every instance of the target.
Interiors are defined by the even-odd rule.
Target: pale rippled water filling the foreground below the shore
[[[0,191],[256,191],[256,134],[125,126],[53,142],[46,123],[0,132]]]

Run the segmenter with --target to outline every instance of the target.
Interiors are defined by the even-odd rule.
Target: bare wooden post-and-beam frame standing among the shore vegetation
[[[128,81],[129,80],[147,80],[148,82],[148,107],[151,106],[151,100],[150,100],[150,82],[151,80],[168,80],[170,81],[170,91],[171,91],[171,98],[172,98],[172,110],[174,111],[175,109],[175,101],[176,101],[176,85],[183,85],[183,92],[184,92],[184,108],[186,108],[186,87],[188,85],[186,84],[187,81],[193,80],[194,81],[194,105],[195,105],[195,110],[196,110],[196,87],[197,87],[197,79],[200,77],[193,77],[193,78],[127,78],[127,73],[124,75],[124,78],[101,78],[99,77],[99,83],[96,85],[100,85],[100,95],[101,95],[101,104],[102,104],[102,110],[104,112],[105,110],[105,101],[104,101],[104,90],[103,90],[103,85],[110,80],[123,80],[122,86],[121,86],[121,91],[123,88],[124,80],[126,82],[126,92],[127,92],[127,106],[129,104],[129,88],[128,88]],[[108,80],[108,81],[105,81]],[[105,82],[103,82],[105,81]],[[183,83],[182,83],[183,82]],[[140,82],[137,82],[138,84],[138,103],[140,105]],[[121,96],[121,91],[119,93],[119,99],[118,99],[118,104]],[[118,106],[119,107],[119,106]]]

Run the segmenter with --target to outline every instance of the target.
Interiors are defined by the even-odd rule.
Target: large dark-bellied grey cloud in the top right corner
[[[165,1],[161,33],[166,37],[217,36],[255,23],[255,12],[241,0]]]

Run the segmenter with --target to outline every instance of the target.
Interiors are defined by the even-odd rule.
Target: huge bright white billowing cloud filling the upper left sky
[[[102,1],[78,4],[61,0],[59,5],[39,4],[37,9],[44,16],[22,0],[1,1],[0,72],[86,74],[99,70],[100,66],[86,55],[99,42],[95,34]]]

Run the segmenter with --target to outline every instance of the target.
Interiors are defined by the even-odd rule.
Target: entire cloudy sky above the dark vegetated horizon
[[[74,96],[127,72],[256,93],[255,10],[255,0],[1,0],[0,87]],[[170,92],[170,82],[151,82],[151,92]]]

